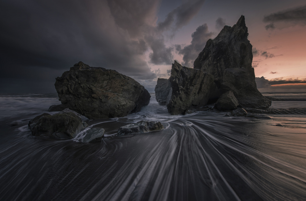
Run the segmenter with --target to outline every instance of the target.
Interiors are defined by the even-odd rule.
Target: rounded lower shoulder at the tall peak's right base
[[[242,107],[265,109],[271,100],[265,98],[256,88],[254,69],[228,68],[224,71],[222,91],[232,91]]]

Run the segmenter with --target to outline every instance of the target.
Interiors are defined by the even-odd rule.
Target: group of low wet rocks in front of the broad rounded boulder
[[[81,117],[82,115],[70,109],[64,109],[53,115],[43,113],[30,120],[28,128],[35,137],[44,136],[58,139],[73,139],[88,126],[86,122],[82,122]],[[164,127],[159,121],[139,121],[120,127],[116,136],[147,133],[162,129]],[[99,141],[105,134],[103,128],[89,128],[83,132],[84,135],[81,139],[83,143]]]

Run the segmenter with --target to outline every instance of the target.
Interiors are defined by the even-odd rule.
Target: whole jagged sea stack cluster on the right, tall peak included
[[[207,41],[193,69],[174,61],[170,78],[157,81],[156,100],[171,114],[185,114],[211,102],[218,110],[271,106],[271,100],[257,90],[247,37],[241,16],[233,27],[225,26],[215,39]]]

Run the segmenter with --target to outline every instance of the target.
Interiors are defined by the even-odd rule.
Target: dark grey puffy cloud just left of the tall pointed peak
[[[197,58],[199,53],[205,47],[205,44],[208,39],[213,36],[213,32],[208,31],[207,24],[203,24],[196,28],[196,31],[191,34],[191,44],[185,46],[184,48],[181,45],[176,45],[175,49],[179,54],[183,55],[182,65],[187,67],[192,67],[194,60]]]

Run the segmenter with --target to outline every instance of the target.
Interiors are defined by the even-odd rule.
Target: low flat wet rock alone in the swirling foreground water
[[[147,133],[150,131],[159,131],[164,126],[159,121],[139,121],[134,124],[128,124],[119,128],[117,135],[131,135],[134,133]]]

